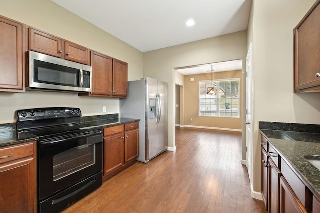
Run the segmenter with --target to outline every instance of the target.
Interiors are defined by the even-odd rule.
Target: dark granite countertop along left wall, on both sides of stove
[[[137,121],[140,121],[140,119],[118,118],[118,114],[81,117],[81,122],[92,125],[92,128],[96,126],[103,128]],[[35,135],[16,131],[15,123],[0,124],[0,148],[38,139]]]

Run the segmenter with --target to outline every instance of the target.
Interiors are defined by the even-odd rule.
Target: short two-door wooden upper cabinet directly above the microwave
[[[29,50],[86,65],[89,64],[88,48],[31,27],[29,28]]]

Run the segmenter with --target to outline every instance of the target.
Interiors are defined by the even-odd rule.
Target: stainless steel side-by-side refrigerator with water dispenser
[[[167,83],[153,78],[128,82],[128,98],[120,99],[120,116],[138,118],[139,156],[147,163],[167,150]]]

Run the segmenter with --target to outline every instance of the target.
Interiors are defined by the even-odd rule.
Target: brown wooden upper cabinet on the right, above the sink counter
[[[294,28],[294,92],[320,92],[319,4]]]

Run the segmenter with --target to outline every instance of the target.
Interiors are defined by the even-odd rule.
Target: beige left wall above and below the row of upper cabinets
[[[128,80],[143,77],[142,52],[50,0],[1,0],[0,15],[127,62]],[[106,114],[118,113],[120,108],[118,98],[36,91],[0,93],[0,123],[15,122],[16,109],[49,106],[80,107],[83,115],[104,114],[102,106],[106,106]]]

